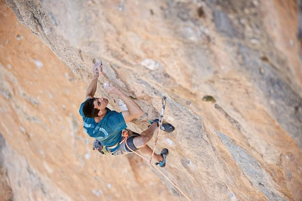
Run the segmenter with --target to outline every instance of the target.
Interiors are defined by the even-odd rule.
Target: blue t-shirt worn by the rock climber
[[[79,108],[79,113],[83,117],[84,130],[90,137],[98,139],[103,146],[114,146],[118,143],[116,148],[110,150],[116,151],[119,148],[119,142],[122,141],[122,130],[127,127],[122,113],[106,108],[107,114],[100,120],[100,123],[96,123],[94,118],[84,116],[84,103]]]

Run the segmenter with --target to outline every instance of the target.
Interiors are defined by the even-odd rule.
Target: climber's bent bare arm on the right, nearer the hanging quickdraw
[[[119,88],[111,84],[107,84],[105,85],[105,90],[112,94],[116,94],[126,104],[128,110],[122,111],[122,115],[126,123],[143,114],[143,110],[140,109],[140,106],[138,106],[138,104],[136,104],[136,102],[134,102],[133,99],[128,97],[124,92],[119,90]]]

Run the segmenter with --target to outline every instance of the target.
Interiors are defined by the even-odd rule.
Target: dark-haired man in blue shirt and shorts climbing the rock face
[[[153,120],[150,127],[141,134],[126,129],[126,123],[141,116],[143,111],[122,90],[108,83],[104,85],[105,90],[122,99],[128,110],[122,112],[111,111],[107,108],[108,99],[93,97],[96,93],[99,67],[103,69],[101,62],[96,62],[93,65],[93,79],[86,91],[86,101],[81,104],[79,109],[79,113],[83,117],[84,129],[90,137],[96,139],[93,148],[97,148],[103,154],[122,155],[140,149],[144,155],[152,155],[153,151],[147,145],[147,142],[152,138],[159,120]],[[168,123],[163,123],[161,129],[172,132],[174,127]],[[122,134],[128,134],[128,136],[123,137]],[[156,164],[164,167],[168,154],[169,151],[166,148],[159,155],[155,154],[153,158],[157,160]]]

